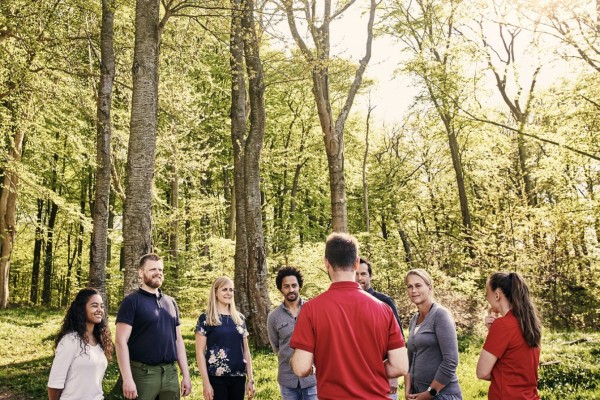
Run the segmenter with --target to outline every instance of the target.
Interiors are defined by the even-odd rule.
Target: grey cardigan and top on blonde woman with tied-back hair
[[[458,342],[450,311],[433,303],[415,334],[419,313],[410,320],[408,335],[409,373],[413,393],[427,390],[435,379],[443,385],[440,394],[461,394],[456,376]]]

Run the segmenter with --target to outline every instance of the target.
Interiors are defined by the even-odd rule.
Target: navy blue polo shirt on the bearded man
[[[159,296],[141,288],[123,299],[117,323],[131,325],[129,359],[149,365],[177,361],[179,310],[175,300],[159,289]]]

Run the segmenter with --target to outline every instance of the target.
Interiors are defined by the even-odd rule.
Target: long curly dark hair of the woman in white
[[[90,297],[96,294],[99,295],[100,292],[93,288],[81,289],[79,293],[77,293],[77,296],[75,296],[75,299],[67,310],[67,315],[65,315],[60,331],[56,336],[56,340],[54,341],[55,348],[64,336],[74,332],[79,336],[79,339],[81,340],[81,350],[85,353],[85,346],[88,344],[88,339],[85,335],[87,320],[85,307],[90,300]],[[96,341],[100,344],[100,347],[102,347],[102,350],[104,350],[104,355],[110,361],[112,359],[114,346],[110,335],[110,329],[108,328],[106,314],[99,324],[94,325],[93,334]]]

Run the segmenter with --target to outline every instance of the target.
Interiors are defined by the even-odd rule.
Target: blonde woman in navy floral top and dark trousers
[[[205,400],[254,397],[246,322],[235,308],[233,281],[226,276],[213,282],[206,312],[198,318],[196,361]]]

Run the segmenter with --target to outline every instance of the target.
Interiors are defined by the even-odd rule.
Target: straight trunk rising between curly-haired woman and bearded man
[[[115,78],[113,50],[114,1],[102,0],[100,32],[100,82],[96,105],[96,183],[94,195],[92,243],[90,255],[90,286],[106,299],[106,265],[108,252],[108,219],[110,208],[110,141],[112,88]]]

